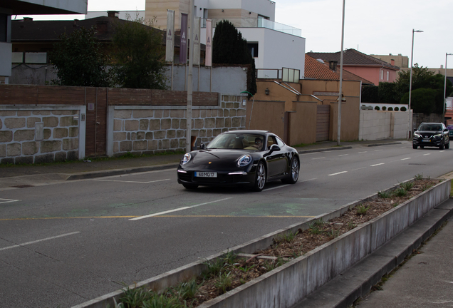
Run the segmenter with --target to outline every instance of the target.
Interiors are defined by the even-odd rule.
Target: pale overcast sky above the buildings
[[[274,0],[275,21],[302,30],[306,52],[341,49],[341,0]],[[413,63],[429,68],[445,65],[453,53],[452,0],[346,0],[344,48],[367,54],[409,57],[415,33]],[[88,0],[88,11],[144,10],[145,0]],[[13,16],[14,18],[14,16]],[[69,19],[79,18],[68,16]],[[35,17],[35,20],[37,18]],[[448,57],[453,68],[453,56]]]

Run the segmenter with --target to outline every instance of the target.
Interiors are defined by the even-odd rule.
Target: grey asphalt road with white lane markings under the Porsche
[[[1,307],[71,307],[423,174],[411,143],[301,155],[295,185],[186,190],[175,170],[0,190]]]

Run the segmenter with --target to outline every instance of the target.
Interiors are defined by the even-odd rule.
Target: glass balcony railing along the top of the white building
[[[215,28],[219,21],[225,19],[212,19],[212,27]],[[227,19],[231,24],[236,28],[266,28],[286,34],[291,34],[293,36],[302,36],[302,30],[294,28],[292,26],[287,26],[285,24],[280,24],[275,21],[270,21],[269,19]],[[203,28],[206,28],[206,19],[202,19]]]

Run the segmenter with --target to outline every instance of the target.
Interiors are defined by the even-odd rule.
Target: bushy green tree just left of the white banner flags
[[[128,18],[130,19],[130,18]],[[123,88],[165,89],[165,50],[155,19],[118,22],[113,35],[113,72]]]

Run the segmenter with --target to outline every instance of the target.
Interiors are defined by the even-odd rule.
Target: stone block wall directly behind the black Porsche
[[[245,129],[245,102],[245,94],[222,94],[216,107],[192,107],[192,135],[197,142],[208,143],[224,131]],[[187,107],[110,106],[108,113],[113,113],[108,116],[113,135],[107,148],[114,156],[186,148]]]

